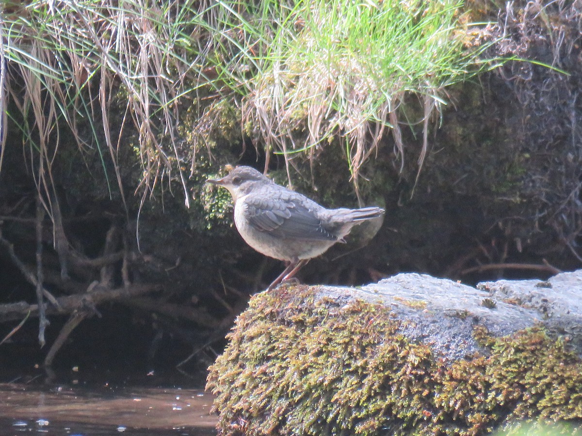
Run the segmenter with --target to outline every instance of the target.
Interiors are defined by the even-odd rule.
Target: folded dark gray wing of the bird
[[[322,227],[314,208],[310,207],[311,201],[292,196],[279,196],[276,200],[255,196],[247,198],[246,205],[249,223],[257,230],[283,239],[338,240]]]

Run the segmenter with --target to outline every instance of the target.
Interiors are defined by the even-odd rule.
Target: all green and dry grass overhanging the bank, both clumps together
[[[184,151],[179,112],[194,105],[203,113],[201,97],[234,99],[243,108],[241,126],[251,126],[268,156],[313,159],[342,138],[357,190],[361,165],[389,131],[402,168],[399,121],[407,95],[417,95],[422,108],[412,121],[423,124],[420,168],[428,119],[444,102],[443,89],[478,70],[478,49],[463,47],[459,6],[456,0],[4,2],[0,140],[8,116],[49,198],[56,144],[72,133],[81,152],[97,150],[108,183],[115,178],[123,196],[118,156],[123,133],[134,131],[142,204],[166,178],[179,181],[189,205],[182,169],[204,138]],[[111,119],[115,113],[119,119]]]

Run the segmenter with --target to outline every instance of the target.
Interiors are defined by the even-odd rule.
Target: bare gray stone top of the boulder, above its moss
[[[403,322],[404,334],[447,359],[483,351],[473,337],[475,326],[503,336],[541,323],[550,333],[569,335],[582,352],[582,270],[558,274],[548,282],[499,280],[477,288],[403,273],[361,288],[318,287],[318,298],[323,297],[340,303],[354,298],[381,303]]]

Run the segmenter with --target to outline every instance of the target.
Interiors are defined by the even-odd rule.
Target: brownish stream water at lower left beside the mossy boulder
[[[212,396],[179,388],[0,383],[0,435],[215,435]]]

